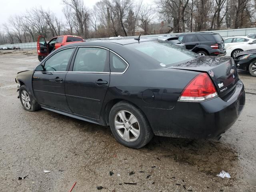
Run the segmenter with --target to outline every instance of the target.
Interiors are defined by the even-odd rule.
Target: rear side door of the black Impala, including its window
[[[65,92],[73,113],[100,118],[110,82],[109,50],[80,47],[66,75]]]

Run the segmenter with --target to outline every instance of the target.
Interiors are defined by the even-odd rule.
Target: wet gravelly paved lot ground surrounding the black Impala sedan
[[[256,191],[256,78],[248,73],[239,72],[246,106],[219,141],[155,136],[136,150],[108,127],[23,110],[14,78],[38,63],[36,50],[0,51],[0,191],[68,191],[74,182],[74,192]],[[217,177],[222,170],[231,178]]]

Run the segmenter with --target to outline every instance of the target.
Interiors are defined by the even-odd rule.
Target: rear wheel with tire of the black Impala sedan
[[[131,148],[142,148],[154,133],[143,112],[128,102],[118,102],[110,110],[109,124],[118,142]]]

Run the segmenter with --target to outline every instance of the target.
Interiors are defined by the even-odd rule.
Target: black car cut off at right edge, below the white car
[[[234,60],[236,68],[248,71],[256,77],[256,49],[240,52]]]

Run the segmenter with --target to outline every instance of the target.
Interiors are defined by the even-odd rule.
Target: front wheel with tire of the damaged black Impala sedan
[[[36,100],[28,92],[25,85],[22,85],[20,87],[19,96],[20,96],[20,102],[25,110],[36,111],[41,108],[38,102],[36,102]]]

